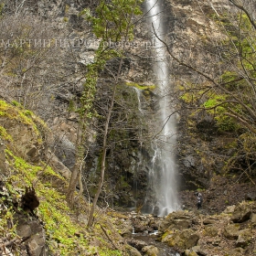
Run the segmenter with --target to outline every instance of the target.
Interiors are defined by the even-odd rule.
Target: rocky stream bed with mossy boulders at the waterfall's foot
[[[255,201],[228,206],[214,215],[178,210],[164,218],[135,212],[118,216],[115,224],[132,246],[130,255],[256,255]]]

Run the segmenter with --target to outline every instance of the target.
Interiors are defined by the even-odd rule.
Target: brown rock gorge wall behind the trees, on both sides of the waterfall
[[[5,86],[1,88],[1,94],[23,102],[27,108],[37,112],[51,127],[48,136],[51,148],[55,150],[59,160],[69,169],[74,165],[74,144],[76,138],[77,113],[72,112],[82,90],[84,82],[83,74],[86,64],[93,59],[94,50],[97,47],[97,39],[91,35],[90,24],[79,14],[84,7],[93,7],[97,1],[81,3],[81,1],[25,1],[24,5],[16,6],[9,1],[1,1],[5,4],[5,13],[17,12],[20,16],[26,14],[36,15],[38,22],[32,17],[27,21],[31,24],[30,34],[34,37],[55,37],[60,40],[69,39],[74,42],[72,47],[49,48],[41,54],[39,64],[35,64],[26,76],[23,71],[31,59],[21,63],[21,67],[9,67],[12,76],[2,76],[2,80],[16,80],[18,86]],[[17,3],[19,3],[17,1]],[[199,66],[205,63],[205,55],[200,48],[208,48],[208,41],[219,37],[215,31],[213,22],[208,18],[223,8],[229,8],[226,1],[212,1],[211,5],[204,1],[165,1],[166,16],[165,26],[168,34],[165,36],[166,44],[179,57],[188,59]],[[21,4],[21,2],[20,2]],[[11,17],[10,17],[11,18]],[[26,35],[26,27],[18,25],[12,17],[13,24],[17,28],[13,34],[16,37]],[[43,19],[43,23],[39,20]],[[16,23],[15,23],[16,22]],[[38,26],[41,34],[38,36]],[[3,21],[3,39],[9,37],[10,27],[7,20]],[[22,34],[24,33],[24,34]],[[150,28],[144,20],[135,27],[134,42],[144,47],[131,47],[123,61],[123,84],[119,88],[115,102],[115,114],[112,116],[112,132],[109,138],[107,153],[106,186],[102,198],[107,198],[112,206],[128,208],[141,208],[144,204],[145,191],[147,190],[147,176],[152,167],[154,151],[150,140],[155,130],[152,123],[155,122],[155,110],[159,108],[158,98],[155,93],[155,75],[153,72],[152,47],[154,43],[150,35]],[[88,43],[91,40],[91,43]],[[149,47],[146,43],[148,43]],[[81,47],[82,44],[82,47]],[[3,47],[3,45],[2,45]],[[13,59],[18,59],[14,55]],[[210,61],[210,56],[207,57]],[[204,59],[204,61],[202,61]],[[167,58],[170,70],[168,83],[177,89],[180,78],[187,81],[197,80],[195,73],[178,65],[171,57]],[[104,115],[104,105],[110,96],[112,79],[108,72],[115,72],[117,60],[108,63],[107,68],[101,74],[95,109]],[[216,70],[206,67],[208,73]],[[22,82],[21,82],[22,81]],[[36,85],[40,85],[40,90]],[[136,87],[141,91],[141,110],[138,109]],[[8,91],[8,93],[6,93]],[[179,174],[180,189],[195,189],[209,187],[211,177],[219,174],[223,167],[223,159],[217,155],[231,155],[233,142],[232,133],[219,133],[214,120],[206,112],[197,112],[191,116],[187,105],[180,100],[180,92],[176,90],[172,101],[178,112],[177,121],[177,145],[176,145],[176,170]],[[123,112],[128,109],[129,112]],[[172,112],[170,112],[171,114]],[[116,125],[118,123],[118,125]],[[142,125],[141,125],[142,124]],[[101,160],[101,119],[93,119],[88,134],[90,144],[89,155],[86,160],[84,181],[88,184],[88,190],[94,192],[92,185],[97,181],[98,164]],[[151,191],[154,197],[154,192]]]

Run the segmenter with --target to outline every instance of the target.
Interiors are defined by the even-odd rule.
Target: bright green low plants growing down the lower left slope
[[[43,166],[31,165],[24,159],[14,155],[11,151],[6,150],[6,158],[8,167],[13,169],[11,176],[7,178],[7,184],[12,191],[24,189],[25,186],[32,186],[35,181],[37,185],[35,187],[37,191],[37,197],[39,198],[40,205],[37,209],[37,215],[45,223],[45,229],[48,235],[48,245],[52,253],[59,250],[56,248],[56,242],[60,242],[61,255],[69,255],[69,253],[77,253],[80,251],[88,250],[88,242],[81,236],[80,238],[74,235],[75,232],[82,232],[80,225],[71,221],[69,215],[71,210],[68,208],[65,196],[52,186],[48,186],[48,182],[44,182],[44,179],[48,181],[50,179],[63,180],[63,177],[56,174],[49,166],[44,171],[42,178]],[[43,165],[43,163],[42,163]],[[45,165],[45,164],[44,164]],[[8,211],[6,218],[13,218],[11,214],[11,208]],[[84,234],[85,235],[85,234]]]

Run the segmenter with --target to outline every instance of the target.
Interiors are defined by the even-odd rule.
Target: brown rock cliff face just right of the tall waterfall
[[[172,54],[180,62],[208,75],[219,70],[208,65],[214,52],[212,41],[220,37],[215,23],[211,19],[230,9],[229,1],[167,1],[170,5],[168,45]],[[206,54],[208,53],[208,54]],[[219,129],[207,112],[189,110],[189,103],[180,93],[181,84],[204,83],[193,69],[179,65],[170,59],[171,84],[174,86],[177,116],[177,165],[180,175],[180,188],[207,188],[214,173],[219,174],[224,165],[220,155],[229,157],[232,133],[219,133]],[[189,85],[188,85],[189,87]]]

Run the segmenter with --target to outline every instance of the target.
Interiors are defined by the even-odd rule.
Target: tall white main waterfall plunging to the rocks
[[[156,136],[153,143],[155,155],[152,158],[149,172],[149,189],[153,191],[155,200],[147,211],[158,216],[165,216],[177,209],[176,195],[176,117],[170,102],[169,69],[163,43],[157,39],[165,39],[165,10],[161,1],[146,0],[147,21],[151,28],[152,39],[155,40],[154,71],[159,97],[159,110],[156,113]],[[154,28],[153,28],[154,27]],[[154,33],[155,30],[155,33]],[[155,34],[157,37],[155,37]]]

